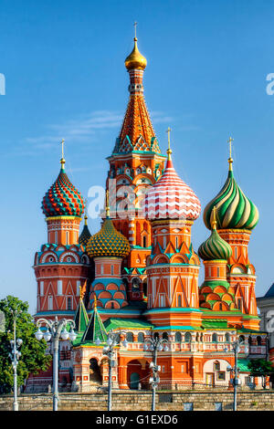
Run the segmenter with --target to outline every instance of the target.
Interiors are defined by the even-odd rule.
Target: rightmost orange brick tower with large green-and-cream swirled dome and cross
[[[216,207],[216,228],[221,238],[231,246],[227,259],[227,281],[233,288],[237,309],[244,313],[246,328],[258,329],[255,297],[255,267],[248,258],[251,231],[258,224],[258,208],[238,186],[233,173],[233,159],[228,158],[227,182],[216,197],[205,206],[204,222],[211,229],[213,208]]]

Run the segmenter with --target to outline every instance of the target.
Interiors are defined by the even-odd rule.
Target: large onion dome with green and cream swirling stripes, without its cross
[[[204,222],[211,229],[213,207],[216,206],[217,229],[253,229],[258,224],[258,208],[242,192],[229,170],[227,182],[216,197],[205,206]]]

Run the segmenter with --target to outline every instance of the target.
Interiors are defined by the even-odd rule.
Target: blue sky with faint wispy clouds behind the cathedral
[[[0,3],[1,274],[7,294],[36,306],[33,258],[47,241],[41,200],[59,171],[87,196],[104,185],[128,100],[124,58],[133,22],[148,65],[145,98],[163,152],[172,132],[177,173],[203,208],[227,178],[234,138],[237,183],[258,205],[249,246],[257,295],[273,276],[274,2],[269,0],[25,0]],[[89,220],[96,232],[98,220]],[[195,249],[208,236],[202,216]],[[204,275],[201,269],[200,282]]]

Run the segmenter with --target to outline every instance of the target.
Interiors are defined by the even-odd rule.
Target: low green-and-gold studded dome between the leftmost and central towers
[[[131,247],[128,239],[115,229],[110,217],[106,217],[99,233],[91,235],[86,250],[89,256],[125,257]]]

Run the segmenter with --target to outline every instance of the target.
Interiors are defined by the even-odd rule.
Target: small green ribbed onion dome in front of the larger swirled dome
[[[227,241],[218,235],[216,231],[216,207],[213,208],[214,219],[212,222],[212,233],[209,238],[198,249],[198,255],[204,261],[215,259],[227,260],[232,255],[232,249]]]

